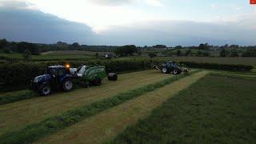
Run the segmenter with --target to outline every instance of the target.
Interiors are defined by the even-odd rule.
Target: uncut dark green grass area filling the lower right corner
[[[255,86],[207,75],[110,143],[254,143]]]

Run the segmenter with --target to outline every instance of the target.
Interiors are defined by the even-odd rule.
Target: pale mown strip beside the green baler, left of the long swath
[[[133,90],[137,87],[172,77],[157,70],[144,70],[118,75],[118,81],[104,80],[102,86],[73,90],[69,93],[52,94],[48,97],[31,98],[0,106],[0,135],[7,131],[24,128],[33,122],[40,122],[77,106],[89,105],[104,98]],[[8,119],[6,121],[6,119]]]

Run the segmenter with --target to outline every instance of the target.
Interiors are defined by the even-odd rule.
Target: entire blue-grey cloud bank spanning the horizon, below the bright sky
[[[255,13],[217,22],[134,20],[129,25],[112,25],[100,34],[95,34],[90,26],[70,22],[39,10],[31,10],[27,8],[30,3],[0,1],[0,4],[5,5],[0,8],[0,38],[11,41],[42,43],[62,41],[87,45],[135,44],[138,46],[156,44],[191,46],[202,42],[214,45],[256,44]],[[115,9],[113,14],[114,12]]]

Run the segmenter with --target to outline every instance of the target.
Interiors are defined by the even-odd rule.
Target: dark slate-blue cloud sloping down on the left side
[[[0,38],[27,42],[93,42],[90,26],[66,21],[38,10],[0,9]]]

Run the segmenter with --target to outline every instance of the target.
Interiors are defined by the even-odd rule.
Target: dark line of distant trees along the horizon
[[[211,51],[219,51],[220,57],[256,57],[256,46],[238,46],[238,45],[224,45],[224,46],[213,46],[208,43],[201,43],[198,46],[174,46],[167,47],[166,45],[155,45],[155,46],[87,46],[80,45],[78,42],[68,44],[66,42],[57,42],[54,44],[41,44],[41,43],[30,43],[30,42],[8,42],[6,39],[0,39],[0,52],[22,53],[25,59],[29,59],[31,54],[38,55],[46,51],[58,51],[58,50],[86,50],[95,52],[114,52],[119,56],[129,56],[134,54],[142,54],[142,50],[149,49],[170,49],[176,50],[177,56],[191,56],[192,50],[197,50],[194,56],[198,57],[209,57]],[[187,49],[186,51],[182,49]],[[240,55],[239,55],[240,54]],[[151,52],[150,58],[156,56]]]

